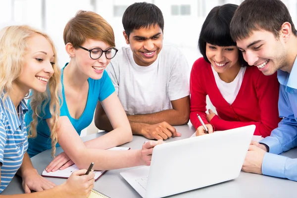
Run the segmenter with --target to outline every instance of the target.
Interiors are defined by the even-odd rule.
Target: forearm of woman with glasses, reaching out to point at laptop
[[[68,155],[68,153],[66,153]],[[84,149],[70,159],[80,168],[87,169],[94,162],[95,170],[111,170],[144,165],[141,163],[141,150],[99,150]]]

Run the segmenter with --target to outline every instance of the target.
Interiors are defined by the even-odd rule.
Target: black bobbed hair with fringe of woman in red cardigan
[[[210,63],[206,56],[206,43],[221,47],[236,46],[230,35],[230,22],[237,7],[238,5],[231,3],[216,6],[206,16],[198,40],[198,48],[206,62]],[[242,52],[239,49],[238,52],[239,62],[247,66]]]

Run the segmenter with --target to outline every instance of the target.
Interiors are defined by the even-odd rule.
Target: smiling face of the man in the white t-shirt
[[[157,59],[163,45],[163,32],[158,25],[133,30],[129,38],[125,31],[123,34],[136,64],[148,66]]]

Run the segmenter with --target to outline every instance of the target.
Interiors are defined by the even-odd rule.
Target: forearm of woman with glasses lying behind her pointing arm
[[[129,127],[116,128],[99,138],[84,142],[87,148],[107,149],[131,142],[133,139],[130,125]]]

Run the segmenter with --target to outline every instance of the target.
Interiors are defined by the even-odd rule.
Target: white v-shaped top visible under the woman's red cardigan
[[[213,69],[213,66],[211,65],[215,83],[217,84],[217,87],[223,98],[230,105],[234,102],[238,95],[238,92],[244,79],[246,68],[247,67],[241,67],[234,81],[232,81],[231,83],[226,83],[225,81],[222,81],[222,79],[219,77],[219,74]]]

